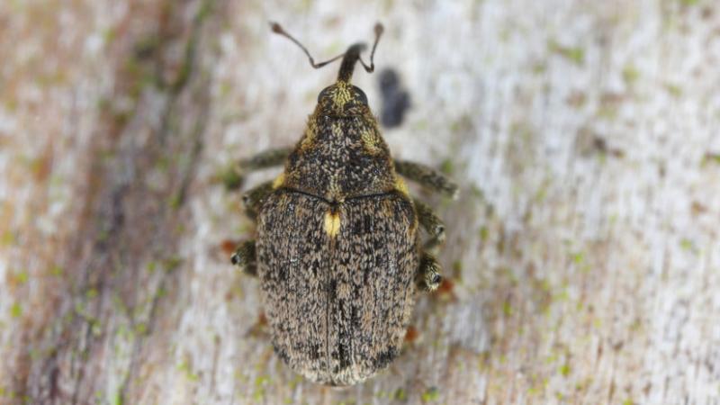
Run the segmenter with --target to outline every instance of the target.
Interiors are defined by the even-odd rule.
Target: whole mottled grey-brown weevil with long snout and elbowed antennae
[[[279,24],[271,27],[312,67],[342,61],[293,148],[233,165],[234,185],[254,170],[284,171],[244,193],[256,238],[242,242],[231,262],[259,278],[275,353],[285,364],[315,383],[355,384],[399,355],[416,293],[442,281],[432,252],[445,226],[410,195],[403,177],[449,195],[457,186],[429,166],[393,160],[365,93],[351,83],[357,62],[373,72],[381,24],[370,65],[360,57],[364,43],[315,63],[301,42]],[[424,242],[419,228],[428,233]]]

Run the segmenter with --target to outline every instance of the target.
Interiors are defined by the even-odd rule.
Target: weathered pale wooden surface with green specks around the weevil
[[[0,403],[720,403],[720,6],[343,3],[0,3]],[[275,357],[220,248],[251,225],[221,168],[337,72],[271,19],[318,59],[383,21],[385,138],[463,187],[426,196],[455,288],[345,390]]]

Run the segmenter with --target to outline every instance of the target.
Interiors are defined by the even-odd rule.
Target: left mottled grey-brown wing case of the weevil
[[[324,202],[299,193],[274,193],[258,219],[257,273],[275,351],[310,378],[327,369],[327,347],[320,339],[328,334],[327,297],[318,293],[327,260],[309,243],[324,233],[320,212],[326,209]]]

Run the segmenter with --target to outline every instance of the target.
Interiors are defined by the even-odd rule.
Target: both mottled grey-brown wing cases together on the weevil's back
[[[400,353],[414,304],[418,242],[413,207],[401,194],[337,205],[341,226],[334,238],[323,229],[331,208],[282,189],[268,197],[258,223],[258,275],[278,354],[313,381],[347,385]]]

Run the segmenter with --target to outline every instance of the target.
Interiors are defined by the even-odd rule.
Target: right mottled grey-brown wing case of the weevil
[[[369,213],[383,206],[390,215]],[[398,355],[413,305],[417,245],[411,234],[413,211],[396,195],[353,200],[344,204],[347,228],[338,238],[338,257],[331,270],[338,290],[330,302],[337,328],[337,349],[332,350],[335,383],[354,383],[383,369]],[[370,225],[365,227],[365,225]],[[365,229],[363,229],[365,228]],[[378,244],[385,248],[376,249]]]

